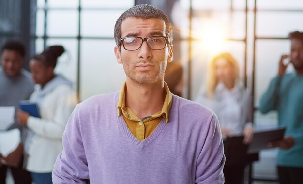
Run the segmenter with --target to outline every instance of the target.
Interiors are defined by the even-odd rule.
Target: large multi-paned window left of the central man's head
[[[134,0],[37,0],[36,52],[62,45],[56,72],[71,79],[80,100],[121,88],[125,75],[114,55],[114,25]]]

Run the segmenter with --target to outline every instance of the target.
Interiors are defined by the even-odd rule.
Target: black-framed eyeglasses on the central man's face
[[[168,37],[166,36],[151,36],[147,38],[141,38],[137,36],[129,36],[125,38],[121,38],[120,41],[123,44],[125,50],[138,50],[143,41],[146,41],[147,45],[152,50],[162,50],[165,48],[165,45],[169,43]]]

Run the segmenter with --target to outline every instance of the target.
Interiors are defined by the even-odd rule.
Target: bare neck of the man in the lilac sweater
[[[126,81],[126,107],[140,119],[162,110],[165,101],[164,81],[156,84],[137,84]]]

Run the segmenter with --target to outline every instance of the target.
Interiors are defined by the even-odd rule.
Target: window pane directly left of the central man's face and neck
[[[81,41],[80,100],[121,89],[125,73],[114,54],[114,40]]]

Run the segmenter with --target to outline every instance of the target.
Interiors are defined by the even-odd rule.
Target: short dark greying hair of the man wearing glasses
[[[172,44],[173,30],[172,30],[171,22],[169,21],[167,15],[165,15],[165,13],[162,10],[155,8],[151,5],[139,4],[126,10],[116,21],[115,29],[114,29],[114,37],[117,46],[120,46],[121,24],[123,20],[125,20],[126,18],[143,18],[143,19],[157,18],[164,20],[166,26],[165,34],[169,38],[169,45]]]

